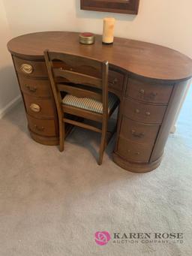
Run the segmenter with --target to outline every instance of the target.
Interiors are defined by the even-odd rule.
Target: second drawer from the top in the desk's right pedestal
[[[124,99],[123,114],[128,118],[148,124],[161,124],[166,106],[143,104]]]

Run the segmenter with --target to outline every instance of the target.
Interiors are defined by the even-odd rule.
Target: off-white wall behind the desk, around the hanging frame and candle
[[[44,30],[102,33],[102,19],[116,18],[115,35],[172,47],[192,57],[192,1],[140,0],[139,14],[81,11],[80,0],[4,0],[14,36]]]

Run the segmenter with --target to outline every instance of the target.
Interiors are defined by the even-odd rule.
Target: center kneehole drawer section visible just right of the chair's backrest
[[[109,87],[121,91],[124,85],[124,74],[116,71],[109,71]]]

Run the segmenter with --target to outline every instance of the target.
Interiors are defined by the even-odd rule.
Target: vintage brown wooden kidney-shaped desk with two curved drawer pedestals
[[[166,47],[115,38],[113,45],[79,44],[76,32],[39,32],[7,44],[20,83],[31,137],[58,144],[58,119],[43,50],[55,50],[110,62],[110,91],[118,95],[120,113],[113,159],[133,172],[160,164],[179,102],[192,77],[192,60]]]

